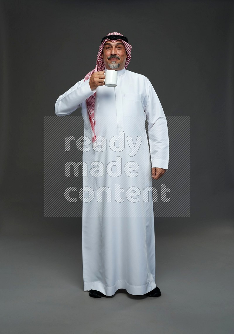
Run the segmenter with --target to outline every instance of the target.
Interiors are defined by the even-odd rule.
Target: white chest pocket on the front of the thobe
[[[123,94],[123,115],[128,117],[143,117],[144,108],[141,94]]]

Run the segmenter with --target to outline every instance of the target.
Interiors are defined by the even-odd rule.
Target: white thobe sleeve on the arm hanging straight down
[[[159,98],[148,79],[146,93],[147,103],[145,106],[145,114],[148,121],[148,136],[152,167],[160,167],[168,170],[169,138],[167,120]]]

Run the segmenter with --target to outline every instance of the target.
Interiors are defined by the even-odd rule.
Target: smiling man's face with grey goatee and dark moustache
[[[127,58],[124,44],[120,40],[116,42],[106,41],[102,50],[102,58],[106,68],[123,69]]]

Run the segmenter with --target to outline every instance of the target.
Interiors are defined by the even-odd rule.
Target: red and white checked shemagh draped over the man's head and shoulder
[[[120,36],[123,36],[122,34],[120,34],[119,32],[110,32],[108,35],[106,36],[110,36],[110,35],[120,35]],[[99,50],[98,50],[98,54],[97,54],[97,64],[96,64],[96,67],[89,73],[87,73],[85,75],[85,78],[84,78],[84,81],[85,80],[88,80],[88,78],[90,78],[90,76],[94,73],[94,72],[99,72],[99,71],[103,71],[105,69],[105,64],[103,62],[103,58],[102,58],[102,50],[103,50],[103,47],[104,47],[104,44],[106,41],[110,40],[109,38],[106,38],[102,41],[101,45],[99,46]],[[112,39],[111,42],[116,42],[118,39]],[[130,60],[131,60],[131,49],[132,49],[132,46],[125,42],[124,40],[122,39],[119,39],[121,40],[121,42],[124,44],[125,46],[125,49],[126,49],[126,52],[127,52],[127,59],[126,59],[126,62],[125,62],[125,69],[127,68]],[[92,143],[94,143],[96,141],[96,136],[95,136],[95,133],[94,133],[94,126],[95,126],[95,118],[94,118],[94,104],[95,104],[95,96],[96,96],[96,93],[94,93],[93,95],[91,95],[87,100],[86,100],[86,106],[87,106],[87,110],[88,110],[88,113],[89,113],[89,121],[90,121],[90,125],[91,125],[91,129],[92,129]]]

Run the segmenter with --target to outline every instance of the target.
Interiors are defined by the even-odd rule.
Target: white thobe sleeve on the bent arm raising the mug
[[[55,114],[57,116],[70,115],[77,108],[81,107],[81,103],[95,92],[96,89],[92,91],[89,86],[89,79],[78,81],[66,93],[60,95],[55,103]]]

